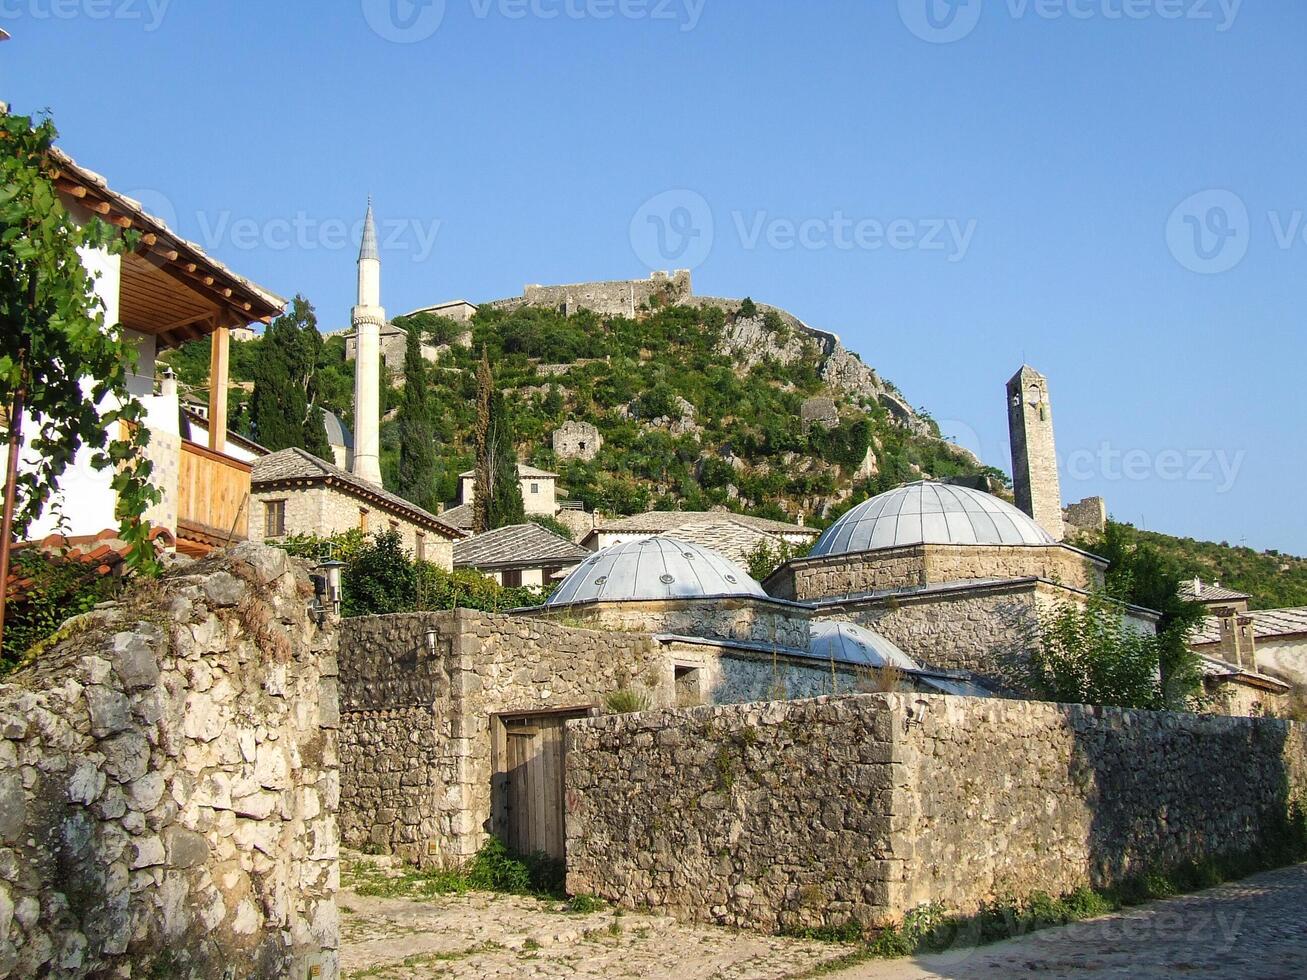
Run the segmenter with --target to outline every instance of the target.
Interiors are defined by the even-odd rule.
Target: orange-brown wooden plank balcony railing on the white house
[[[178,466],[178,547],[207,553],[250,536],[248,463],[188,439]]]

